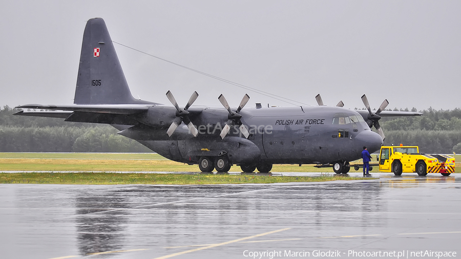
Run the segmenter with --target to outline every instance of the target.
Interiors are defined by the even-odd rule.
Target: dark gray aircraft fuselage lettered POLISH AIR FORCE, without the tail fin
[[[194,114],[193,108],[200,112]],[[222,107],[200,106],[190,109],[198,136],[194,138],[186,125],[181,124],[169,137],[165,128],[174,119],[171,109],[154,105],[146,115],[148,117],[141,118],[152,127],[138,128],[137,131],[133,127],[120,134],[140,141],[168,159],[190,164],[196,164],[201,156],[213,157],[223,152],[234,164],[353,161],[361,158],[363,146],[374,152],[383,143],[359,113],[342,107],[243,109],[241,121],[250,133],[248,139],[242,138],[237,126],[221,139],[219,134],[227,121],[227,111]]]

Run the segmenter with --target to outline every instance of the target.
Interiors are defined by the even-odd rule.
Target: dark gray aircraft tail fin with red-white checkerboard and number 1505
[[[83,33],[74,103],[150,103],[133,98],[102,18],[88,20]]]

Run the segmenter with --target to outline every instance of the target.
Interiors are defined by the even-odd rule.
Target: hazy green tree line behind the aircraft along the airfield
[[[118,135],[110,125],[14,116],[17,111],[0,107],[0,152],[151,152]],[[461,154],[461,109],[436,111],[430,107],[420,112],[424,116],[383,117],[384,144],[418,145],[424,153]]]

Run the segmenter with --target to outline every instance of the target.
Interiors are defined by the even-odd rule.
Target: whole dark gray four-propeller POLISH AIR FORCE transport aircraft
[[[273,164],[317,164],[332,166],[346,174],[349,161],[361,158],[363,146],[370,153],[380,149],[384,133],[382,116],[417,116],[421,113],[384,111],[388,102],[373,113],[337,106],[245,108],[244,95],[235,109],[223,95],[222,107],[192,106],[194,92],[181,108],[173,94],[173,106],[133,98],[115,48],[102,18],[88,20],[80,55],[73,105],[18,106],[41,111],[19,111],[16,115],[64,118],[65,121],[111,124],[118,134],[134,139],[161,156],[187,164],[198,164],[203,172],[269,172]],[[378,133],[372,132],[374,126]]]

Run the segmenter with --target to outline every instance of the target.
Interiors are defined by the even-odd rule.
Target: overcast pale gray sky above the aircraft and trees
[[[461,1],[1,1],[0,105],[71,104],[86,20],[112,40],[299,102],[461,107]],[[289,103],[115,45],[134,97]]]

